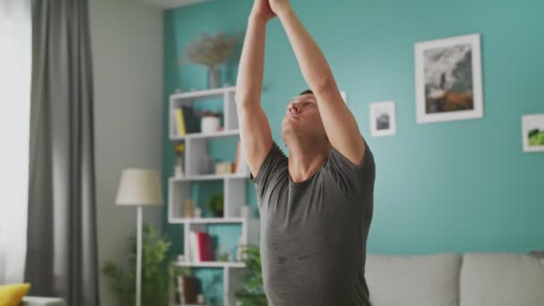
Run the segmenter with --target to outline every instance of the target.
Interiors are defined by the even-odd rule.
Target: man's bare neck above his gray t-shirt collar
[[[294,141],[293,141],[294,142]],[[319,171],[327,161],[330,145],[322,144],[289,144],[289,176],[294,183],[300,183]]]

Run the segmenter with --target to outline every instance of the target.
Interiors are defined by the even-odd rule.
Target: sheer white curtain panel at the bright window
[[[0,285],[24,277],[31,44],[30,0],[0,0]]]

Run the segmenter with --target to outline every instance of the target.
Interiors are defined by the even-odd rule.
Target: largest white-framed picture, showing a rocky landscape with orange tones
[[[418,123],[483,116],[480,34],[416,43]]]

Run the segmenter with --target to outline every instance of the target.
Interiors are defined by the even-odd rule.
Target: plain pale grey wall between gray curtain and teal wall
[[[126,263],[136,209],[115,207],[125,167],[161,170],[163,16],[134,0],[89,0],[95,85],[98,259]],[[160,225],[161,208],[144,219]],[[100,275],[101,304],[115,305],[109,281]]]

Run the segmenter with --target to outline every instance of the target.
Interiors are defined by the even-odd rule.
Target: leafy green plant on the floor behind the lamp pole
[[[174,262],[167,257],[171,242],[160,234],[150,224],[143,225],[143,258],[142,268],[146,271],[142,275],[142,284],[145,290],[141,294],[142,305],[168,305],[169,277],[174,276]],[[128,256],[129,269],[125,270],[113,261],[106,261],[102,274],[111,279],[111,288],[115,293],[118,305],[133,306],[136,298],[136,236],[130,237],[130,251]],[[124,264],[122,265],[125,266]]]

